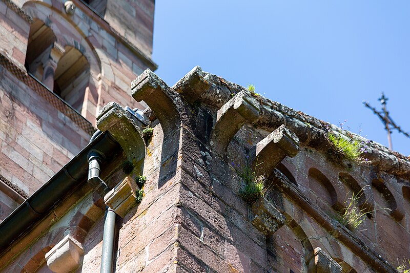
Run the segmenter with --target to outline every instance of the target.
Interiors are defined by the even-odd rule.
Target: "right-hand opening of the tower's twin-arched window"
[[[55,69],[53,92],[81,111],[89,80],[90,65],[87,58],[78,49],[67,46]]]

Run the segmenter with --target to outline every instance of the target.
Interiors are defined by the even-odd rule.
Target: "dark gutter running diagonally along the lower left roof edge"
[[[121,150],[110,133],[104,132],[93,139],[73,159],[64,165],[32,196],[20,204],[0,223],[0,254],[18,240],[30,227],[43,219],[58,203],[78,187],[87,183],[88,159],[92,150],[104,158]]]

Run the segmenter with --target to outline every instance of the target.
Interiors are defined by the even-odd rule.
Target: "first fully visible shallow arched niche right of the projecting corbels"
[[[318,201],[319,206],[325,211],[337,202],[337,194],[330,180],[318,169],[309,169],[309,188],[314,192],[313,199]]]

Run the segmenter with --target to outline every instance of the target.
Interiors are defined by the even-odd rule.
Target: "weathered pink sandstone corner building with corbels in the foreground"
[[[131,87],[149,125],[117,103],[97,117],[123,149],[101,178],[147,177],[142,201],[117,217],[116,272],[397,272],[409,258],[408,158],[371,142],[371,163],[335,159],[328,124],[199,67],[173,87],[146,70]],[[269,189],[254,202],[239,194],[247,162]],[[369,213],[346,227],[359,191]],[[104,206],[83,184],[3,251],[2,271],[48,272],[45,254],[67,235],[84,249],[76,272],[98,271]]]

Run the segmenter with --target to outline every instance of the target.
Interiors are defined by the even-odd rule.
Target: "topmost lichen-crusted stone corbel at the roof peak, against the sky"
[[[181,94],[188,102],[194,103],[204,92],[211,87],[199,66],[194,67],[187,75],[180,79],[172,87]]]

